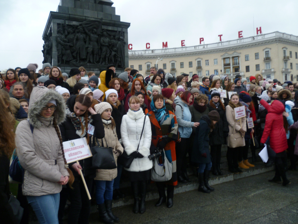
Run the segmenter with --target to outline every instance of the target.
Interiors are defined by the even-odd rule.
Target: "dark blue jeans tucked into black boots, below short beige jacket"
[[[96,204],[103,204],[105,200],[113,199],[114,180],[95,180]]]

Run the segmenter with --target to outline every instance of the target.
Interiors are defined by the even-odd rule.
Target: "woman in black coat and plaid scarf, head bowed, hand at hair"
[[[87,133],[89,124],[95,127],[94,134],[96,138],[101,139],[105,136],[101,116],[91,108],[89,96],[83,94],[72,95],[67,100],[66,106],[66,120],[60,125],[63,142],[86,137],[91,148],[91,137]],[[82,127],[84,128],[83,130]],[[69,194],[71,203],[69,205],[68,223],[89,223],[91,202],[80,177],[79,169],[83,172],[89,192],[91,191],[93,179],[96,176],[96,170],[91,169],[92,157],[82,159],[79,162],[80,164],[76,162],[69,164],[69,168],[75,176],[75,181],[72,184],[73,189],[67,186],[67,191],[62,190],[60,193],[58,216],[61,215],[65,207],[63,198],[64,200],[65,198],[67,199],[65,194]]]

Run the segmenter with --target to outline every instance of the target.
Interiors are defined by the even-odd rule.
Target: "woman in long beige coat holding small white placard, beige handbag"
[[[239,102],[239,95],[234,93],[231,95],[229,104],[226,106],[226,119],[229,124],[229,136],[227,137],[228,150],[226,153],[226,159],[228,161],[229,171],[231,173],[242,173],[238,168],[238,152],[239,147],[245,145],[244,134],[246,132],[246,117],[245,113],[243,117],[237,118],[235,115],[235,108],[242,107]],[[239,110],[241,114],[245,108]]]

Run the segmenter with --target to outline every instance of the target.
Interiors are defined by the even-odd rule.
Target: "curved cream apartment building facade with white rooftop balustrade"
[[[198,74],[200,80],[211,74],[227,75],[232,80],[240,74],[249,79],[259,73],[280,82],[297,82],[297,52],[298,36],[276,31],[192,47],[129,50],[128,61],[144,76],[150,73],[150,67],[156,66],[174,76]]]

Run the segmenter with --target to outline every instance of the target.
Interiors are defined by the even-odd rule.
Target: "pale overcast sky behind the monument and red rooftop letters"
[[[113,1],[113,0],[112,0]],[[1,0],[0,70],[27,67],[37,63],[42,68],[42,33],[50,11],[56,11],[60,0]],[[201,1],[201,0],[114,0],[116,14],[130,22],[128,42],[133,50],[181,47],[238,39],[280,31],[298,36],[298,1]],[[253,19],[254,18],[254,19]],[[253,24],[254,21],[254,24]]]

